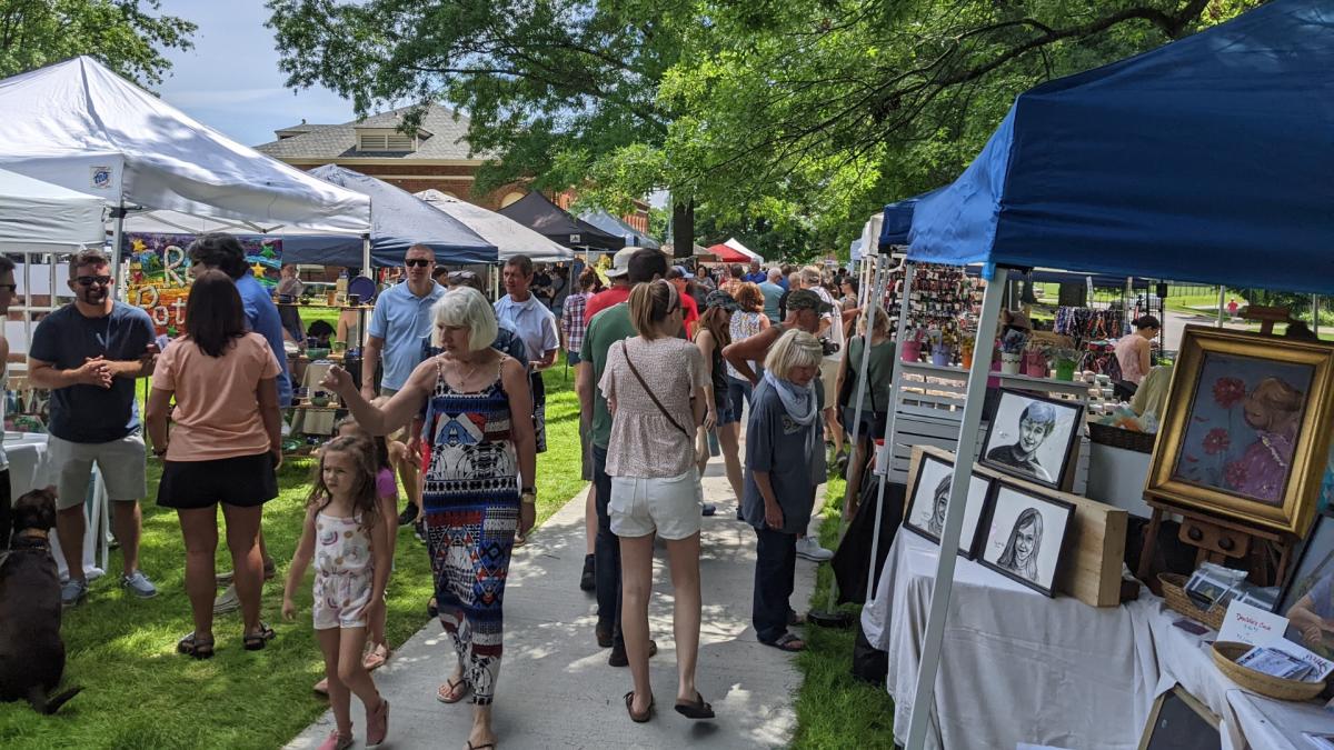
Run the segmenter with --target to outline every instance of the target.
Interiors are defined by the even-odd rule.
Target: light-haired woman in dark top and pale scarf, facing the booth
[[[742,511],[755,527],[755,597],[751,622],[759,642],[783,651],[806,643],[788,633],[796,574],[796,536],[806,532],[815,488],[824,482],[820,412],[812,382],[820,342],[791,330],[768,350],[764,378],[746,426],[746,498]]]

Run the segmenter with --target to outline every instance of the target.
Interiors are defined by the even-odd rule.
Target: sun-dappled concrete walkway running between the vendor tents
[[[546,747],[783,747],[796,727],[792,699],[800,685],[792,658],[755,639],[750,626],[755,534],[736,520],[736,503],[714,459],[704,496],[718,504],[703,530],[703,627],[696,682],[718,718],[692,722],[672,710],[676,653],[671,631],[671,582],[659,548],[650,630],[655,718],[636,725],[622,695],[630,671],[607,666],[610,649],[594,638],[596,602],[579,590],[584,555],[584,495],[547,520],[515,551],[506,585],[506,655],[495,699],[495,730],[504,750]],[[804,611],[815,565],[798,558],[792,605]],[[390,699],[384,747],[466,747],[472,707],[446,706],[435,693],[454,665],[439,622],[430,622],[375,673]],[[363,709],[352,699],[358,747]],[[334,726],[325,713],[288,747],[316,747]]]

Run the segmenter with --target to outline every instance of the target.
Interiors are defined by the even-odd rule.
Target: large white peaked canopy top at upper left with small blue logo
[[[92,57],[0,80],[0,165],[104,196],[113,244],[125,212],[153,210],[236,220],[257,232],[370,231],[366,195],[228,139]]]

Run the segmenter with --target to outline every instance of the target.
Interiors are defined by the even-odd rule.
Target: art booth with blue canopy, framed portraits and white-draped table
[[[1330,69],[1334,9],[1277,0],[1021,95],[958,180],[914,200],[907,236],[894,242],[899,208],[878,219],[863,247],[906,303],[890,311],[899,356],[876,456],[874,511],[891,518],[874,526],[892,542],[883,565],[872,551],[860,625],[887,655],[899,743],[1334,738],[1334,346],[1186,328],[1154,387],[1151,444],[1118,446],[1142,458],[1114,463],[1090,447],[1089,416],[1121,399],[1051,358],[1027,371],[1011,351],[1025,320],[1002,303],[1041,268],[1334,291]],[[907,247],[900,284],[883,283],[890,244]],[[984,284],[938,275],[968,266]],[[912,334],[912,290],[931,288],[914,282],[972,308],[966,360],[960,346],[928,359],[947,342]],[[902,507],[886,480],[904,484]]]

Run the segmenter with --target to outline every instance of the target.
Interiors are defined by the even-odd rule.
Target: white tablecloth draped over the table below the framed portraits
[[[895,739],[907,739],[938,547],[900,532],[875,598],[862,610],[872,646],[888,653]],[[1305,750],[1302,731],[1334,731],[1319,703],[1249,693],[1214,666],[1203,637],[1147,591],[1121,607],[1047,599],[964,559],[936,677],[928,747],[1138,749],[1154,699],[1181,685],[1219,715],[1223,750]]]

